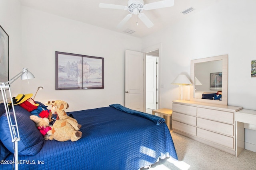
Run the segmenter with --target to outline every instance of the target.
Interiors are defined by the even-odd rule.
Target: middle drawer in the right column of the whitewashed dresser
[[[197,118],[197,127],[222,133],[224,135],[234,136],[234,126],[226,123]]]

